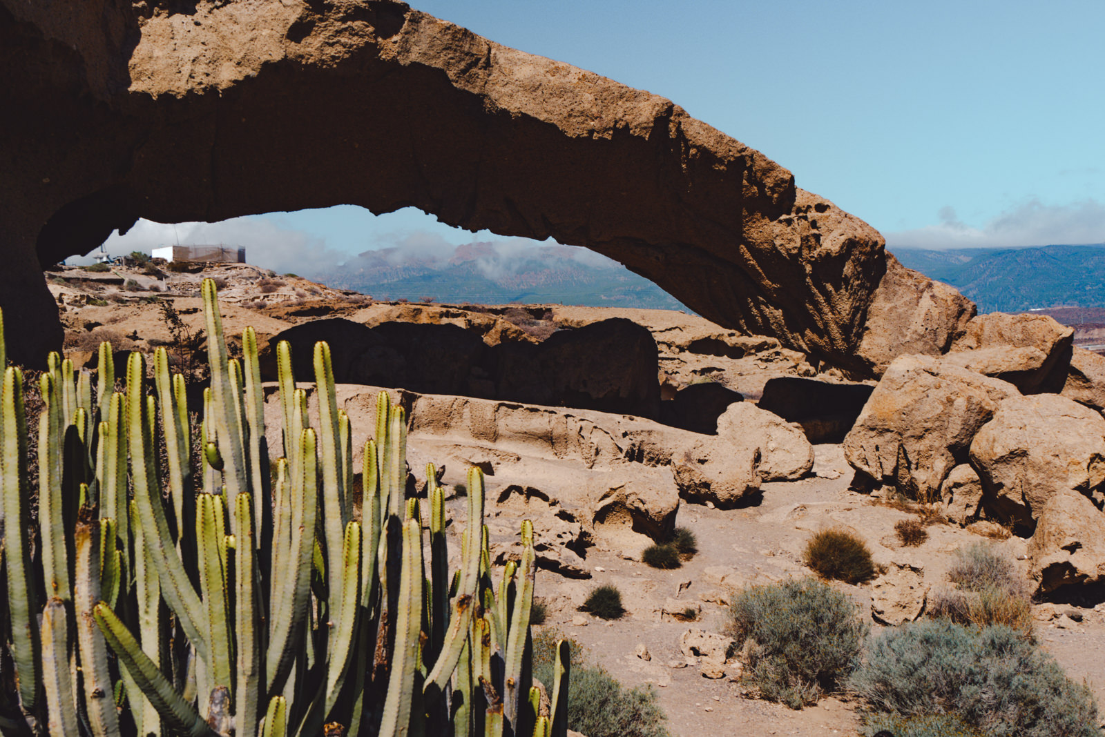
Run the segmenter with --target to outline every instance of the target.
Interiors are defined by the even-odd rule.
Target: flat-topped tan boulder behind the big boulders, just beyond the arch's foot
[[[1023,394],[1059,392],[1073,337],[1073,328],[1044,314],[991,312],[967,323],[945,362],[1009,382]]]

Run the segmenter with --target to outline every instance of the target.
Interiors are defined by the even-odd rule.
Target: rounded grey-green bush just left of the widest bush
[[[848,676],[867,626],[846,596],[814,578],[753,586],[729,608],[727,633],[745,649],[745,677],[791,708]]]

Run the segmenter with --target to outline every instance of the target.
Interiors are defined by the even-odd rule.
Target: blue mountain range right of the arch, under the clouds
[[[1105,307],[1105,244],[892,250],[905,266],[975,300],[979,312]]]

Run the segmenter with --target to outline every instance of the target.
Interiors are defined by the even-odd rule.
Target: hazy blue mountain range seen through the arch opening
[[[329,287],[376,299],[506,305],[562,302],[588,307],[687,310],[618,261],[576,246],[477,242],[412,254],[366,250],[337,268],[312,274]]]

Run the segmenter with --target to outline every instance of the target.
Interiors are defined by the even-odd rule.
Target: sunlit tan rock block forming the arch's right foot
[[[881,376],[903,354],[939,355],[951,348],[978,308],[954,287],[907,269],[886,255],[886,276],[867,309],[857,359]]]

